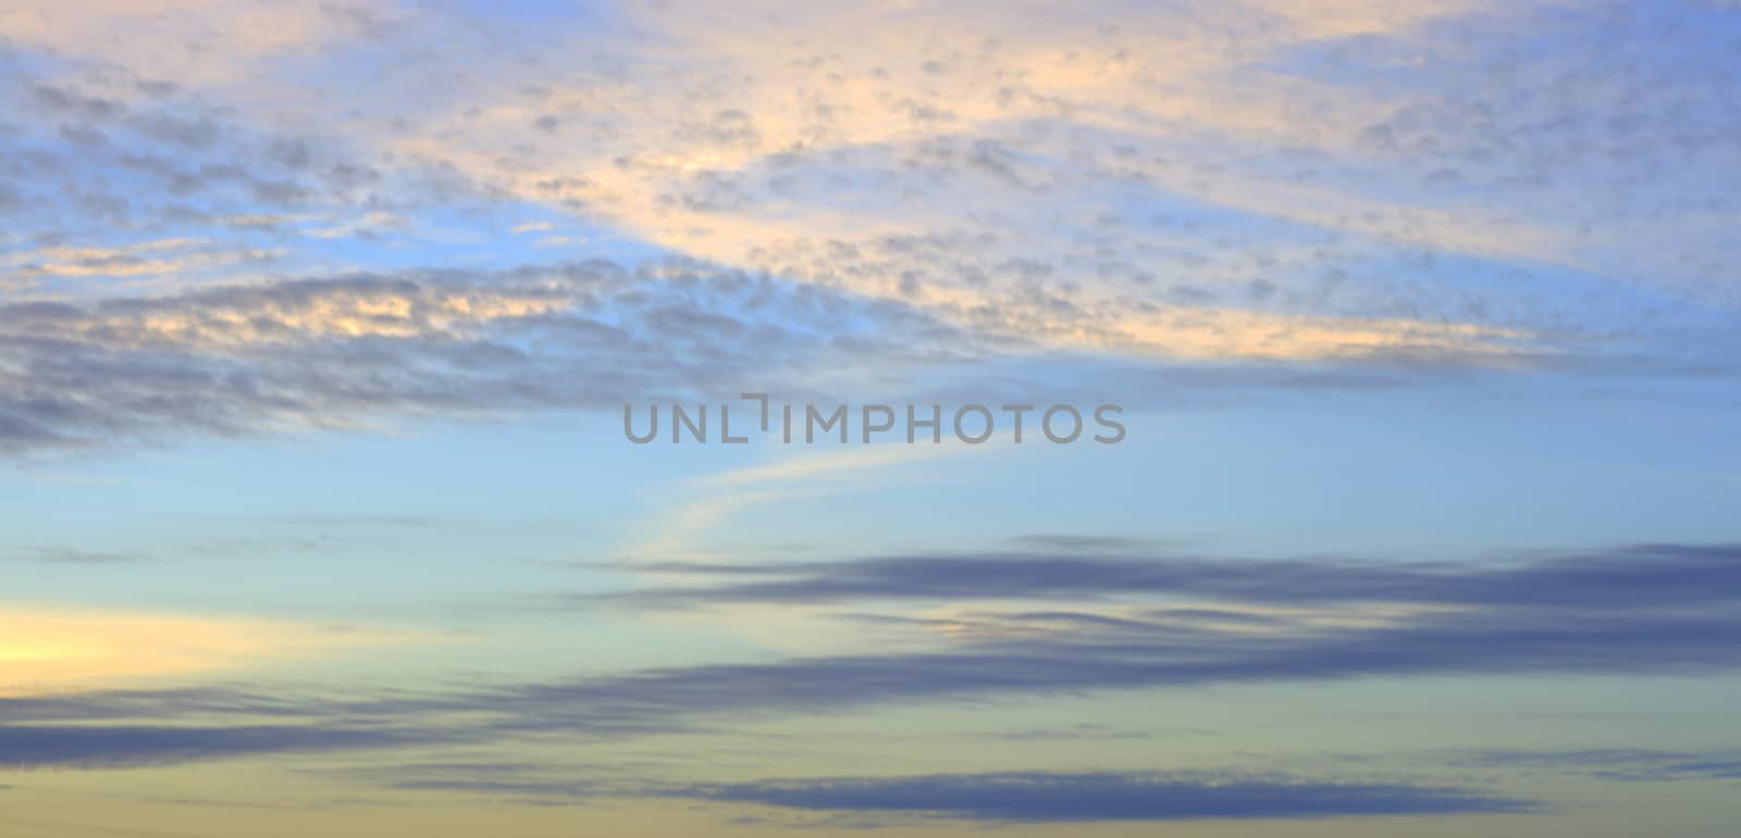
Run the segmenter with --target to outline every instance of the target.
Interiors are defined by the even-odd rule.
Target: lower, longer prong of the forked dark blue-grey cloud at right
[[[1462,614],[1398,626],[1267,633],[1154,629],[1020,636],[952,652],[710,664],[494,690],[460,706],[507,725],[656,730],[714,716],[829,713],[879,704],[1445,675],[1696,675],[1734,671],[1732,617]],[[447,706],[437,701],[434,706]],[[414,704],[413,704],[414,706]],[[393,704],[380,704],[390,713]]]

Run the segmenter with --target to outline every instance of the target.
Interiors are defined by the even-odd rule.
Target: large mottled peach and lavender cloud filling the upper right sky
[[[1684,64],[1637,50],[1591,71],[1588,54],[1637,37],[1624,3],[1187,5],[642,10],[662,37],[634,57],[496,78],[486,104],[383,143],[691,256],[1139,356],[1492,363],[1612,337],[1603,309],[1626,299],[1671,330],[1675,296],[1732,294],[1713,224],[1732,207],[1710,184],[1732,169],[1715,137],[1734,115],[1706,82],[1727,57],[1696,16],[1649,21],[1696,43]],[[1570,104],[1590,99],[1605,120]],[[1680,146],[1703,181],[1616,163]],[[1593,226],[1624,252],[1591,259],[1609,247]],[[1642,228],[1680,254],[1631,247]]]

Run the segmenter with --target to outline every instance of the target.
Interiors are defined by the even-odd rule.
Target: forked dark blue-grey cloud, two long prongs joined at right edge
[[[1112,595],[1123,602],[1112,614],[1083,605],[968,610],[947,621],[954,631],[940,636],[952,640],[940,650],[646,669],[515,687],[494,692],[491,701],[521,722],[656,727],[662,718],[695,722],[1106,688],[1436,675],[1725,673],[1738,666],[1732,650],[1741,642],[1734,607],[1741,575],[1731,546],[1649,546],[1487,567],[1032,555],[952,556],[940,565],[844,562],[844,586],[827,581],[825,569],[804,565],[806,579],[817,584],[803,593],[780,588],[778,598],[761,588],[740,596],[740,586],[759,582],[740,582],[743,569],[735,569],[724,577],[724,596],[682,602],[815,605],[886,596]],[[874,572],[862,574],[865,567]],[[870,584],[860,584],[867,577]],[[1346,614],[1348,603],[1384,603],[1393,614],[1351,626],[1250,615],[1243,609],[1179,609],[1165,602],[1166,595],[1332,614]]]

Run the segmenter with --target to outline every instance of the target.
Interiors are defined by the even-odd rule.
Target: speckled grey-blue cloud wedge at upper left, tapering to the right
[[[306,264],[286,229],[474,196],[440,167],[380,167],[341,137],[252,123],[202,92],[153,94],[122,70],[3,47],[0,57],[16,57],[17,76],[0,104],[23,116],[0,132],[0,172],[17,190],[0,214],[24,245],[0,249],[0,266],[56,292],[237,282],[261,264]]]

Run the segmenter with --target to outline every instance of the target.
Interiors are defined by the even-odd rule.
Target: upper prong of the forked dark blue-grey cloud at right
[[[1231,603],[1421,603],[1628,610],[1741,598],[1741,546],[1638,544],[1466,563],[1407,560],[1229,560],[1130,542],[1052,537],[1005,553],[893,555],[813,563],[630,562],[637,574],[700,584],[651,586],[604,602],[846,603],[876,600],[1106,600],[1207,596]],[[1182,615],[1182,614],[1177,614]]]

